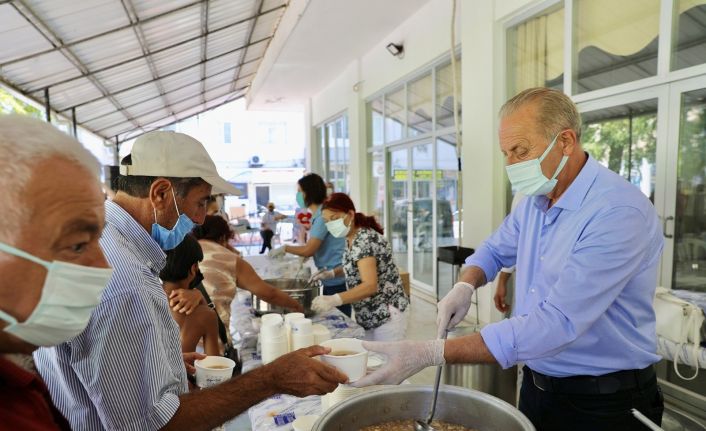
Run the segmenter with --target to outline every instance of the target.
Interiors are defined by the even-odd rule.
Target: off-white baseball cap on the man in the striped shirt
[[[145,133],[135,141],[130,157],[132,164],[120,166],[121,175],[198,177],[213,187],[213,194],[240,195],[235,186],[218,175],[215,163],[201,142],[183,133]]]

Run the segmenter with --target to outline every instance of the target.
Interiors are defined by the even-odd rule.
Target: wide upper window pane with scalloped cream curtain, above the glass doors
[[[576,0],[574,92],[657,74],[659,0]]]

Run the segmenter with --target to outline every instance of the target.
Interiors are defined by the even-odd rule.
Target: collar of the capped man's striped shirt
[[[153,272],[159,273],[164,268],[167,258],[162,248],[123,207],[105,201],[105,221],[125,237],[130,248]]]

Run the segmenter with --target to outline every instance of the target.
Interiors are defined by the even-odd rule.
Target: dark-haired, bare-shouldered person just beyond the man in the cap
[[[174,291],[193,289],[194,284],[200,281],[199,262],[203,260],[203,251],[196,238],[187,235],[181,244],[167,251],[166,254],[167,262],[159,273],[159,278],[164,283],[164,292],[167,296]],[[201,296],[201,293],[199,295]],[[182,352],[195,352],[199,341],[203,341],[205,354],[221,355],[216,312],[206,304],[203,296],[188,314],[172,309],[172,317],[179,325]]]

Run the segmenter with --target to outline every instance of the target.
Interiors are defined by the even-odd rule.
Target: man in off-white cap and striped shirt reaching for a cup
[[[332,391],[346,376],[312,347],[224,384],[188,393],[179,328],[159,272],[163,250],[203,222],[212,193],[237,194],[195,139],[150,132],[123,159],[107,201],[101,246],[115,273],[86,330],[35,354],[52,399],[73,429],[212,429],[276,393]],[[187,363],[188,368],[192,368]]]

